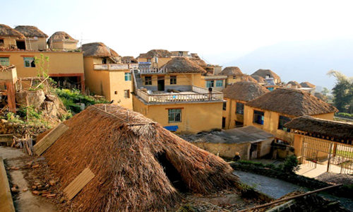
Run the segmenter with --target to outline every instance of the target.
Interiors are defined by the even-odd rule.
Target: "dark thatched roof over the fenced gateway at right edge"
[[[311,134],[335,137],[337,139],[353,139],[353,124],[318,119],[309,116],[292,119],[285,124],[290,129],[306,131]]]

